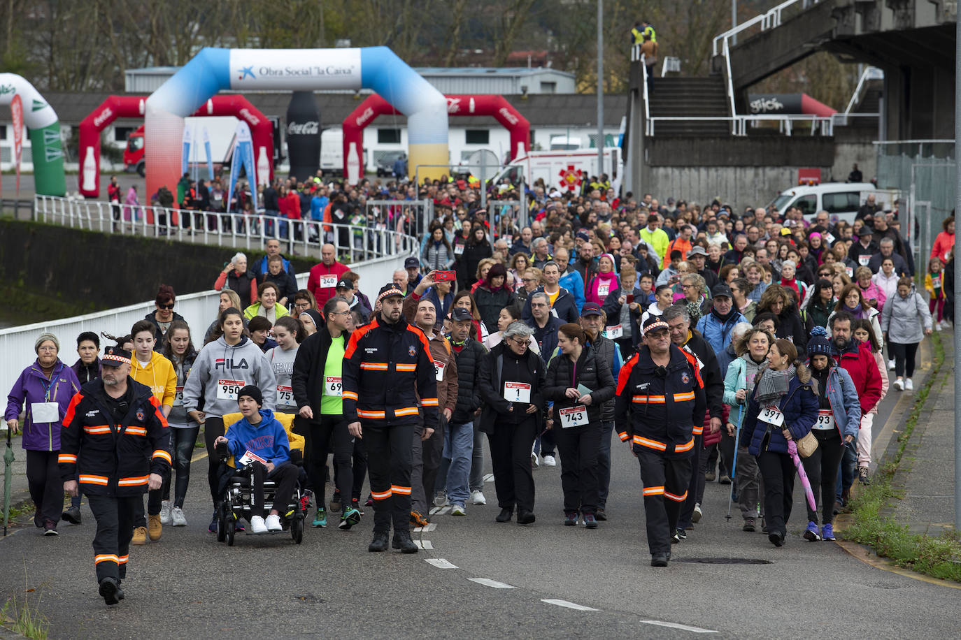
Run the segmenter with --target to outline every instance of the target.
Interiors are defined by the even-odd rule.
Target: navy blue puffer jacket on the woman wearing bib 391
[[[765,372],[767,372],[767,369],[758,375],[758,381],[764,376]],[[791,438],[796,440],[806,436],[818,420],[818,396],[811,388],[811,374],[806,369],[803,374],[803,380],[797,375],[791,378],[787,393],[781,397],[777,404],[778,409],[784,414],[783,428],[788,429],[791,432]],[[748,415],[744,418],[744,432],[751,434],[751,444],[748,445],[748,451],[753,456],[761,453],[761,442],[764,439],[764,434],[768,431],[768,424],[757,419],[760,411],[761,406],[757,402],[757,383],[755,382],[751,402],[748,403]],[[787,453],[787,440],[781,434],[781,429],[771,429],[771,438],[763,450],[772,453]]]

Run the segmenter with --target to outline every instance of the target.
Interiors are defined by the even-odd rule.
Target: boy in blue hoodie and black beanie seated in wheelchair
[[[281,422],[269,409],[260,409],[263,396],[259,388],[247,385],[237,393],[243,417],[234,422],[225,436],[214,440],[218,450],[226,446],[234,456],[236,474],[252,475],[251,533],[283,531],[281,513],[293,497],[301,469],[290,460],[290,444]],[[276,483],[273,509],[264,509],[263,481]],[[266,516],[266,518],[264,518]]]

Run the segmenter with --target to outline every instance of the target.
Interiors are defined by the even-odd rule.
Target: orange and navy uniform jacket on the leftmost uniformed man
[[[127,376],[133,401],[115,423],[102,379],[81,387],[70,400],[58,456],[61,479],[74,480],[87,495],[136,496],[147,490],[151,473],[170,473],[170,427],[160,402],[146,385]]]

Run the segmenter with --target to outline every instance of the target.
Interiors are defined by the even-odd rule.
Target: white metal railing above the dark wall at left
[[[130,218],[130,220],[127,220]],[[417,250],[416,238],[376,222],[338,225],[314,220],[170,209],[161,206],[114,204],[56,196],[34,197],[34,220],[103,233],[164,238],[234,249],[259,249],[276,238],[286,252],[320,256],[325,243],[349,262]]]

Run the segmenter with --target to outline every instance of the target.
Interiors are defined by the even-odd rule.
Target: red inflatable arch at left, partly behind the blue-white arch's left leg
[[[109,96],[99,107],[93,109],[80,123],[80,193],[86,198],[100,196],[100,131],[107,129],[117,118],[141,118],[146,109],[146,96]],[[213,96],[205,105],[194,111],[192,116],[233,115],[250,126],[254,140],[254,157],[259,157],[264,149],[268,158],[274,157],[274,131],[263,113],[241,95],[231,94]],[[94,173],[87,176],[87,156],[92,157]],[[270,178],[274,178],[273,162],[270,163]],[[89,182],[89,183],[87,183]]]

